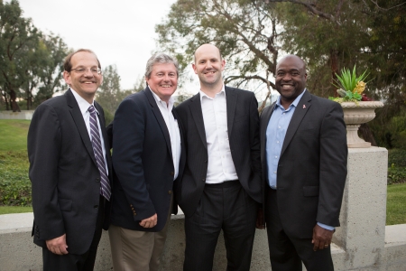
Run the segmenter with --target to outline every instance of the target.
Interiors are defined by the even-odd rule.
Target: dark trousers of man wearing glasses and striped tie
[[[53,254],[48,248],[42,248],[42,260],[44,271],[92,271],[95,266],[98,242],[102,234],[104,219],[105,200],[100,196],[97,213],[96,230],[90,248],[85,254]],[[67,244],[69,247],[69,244]],[[69,248],[68,248],[69,251]]]

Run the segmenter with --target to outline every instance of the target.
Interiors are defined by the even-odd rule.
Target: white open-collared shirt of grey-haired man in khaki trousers
[[[149,88],[149,87],[148,87]],[[179,162],[180,162],[180,130],[178,126],[178,121],[173,117],[173,98],[171,97],[168,104],[161,100],[152,90],[152,96],[155,98],[158,108],[160,108],[165,124],[168,128],[168,132],[171,137],[171,151],[172,151],[172,161],[175,174],[173,180],[178,178],[179,174]]]

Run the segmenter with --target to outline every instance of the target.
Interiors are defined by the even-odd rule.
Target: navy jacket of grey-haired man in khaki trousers
[[[180,158],[184,159],[184,155]],[[165,226],[176,182],[173,182],[171,138],[148,88],[125,98],[115,112],[113,164],[117,179],[112,224],[125,229],[160,231]],[[177,209],[173,211],[176,213]],[[155,227],[147,229],[139,225],[155,213],[158,216]]]

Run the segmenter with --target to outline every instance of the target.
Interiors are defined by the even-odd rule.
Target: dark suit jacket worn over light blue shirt
[[[263,191],[268,185],[266,128],[273,107],[261,115]],[[278,210],[289,236],[311,238],[317,222],[339,226],[347,152],[342,107],[306,91],[291,117],[277,170]]]

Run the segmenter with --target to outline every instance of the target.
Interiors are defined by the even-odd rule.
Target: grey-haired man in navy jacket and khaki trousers
[[[115,112],[117,180],[109,229],[115,270],[158,270],[171,212],[177,212],[172,192],[182,171],[181,146],[171,95],[178,76],[176,60],[152,55],[145,70],[148,87],[125,98]]]

